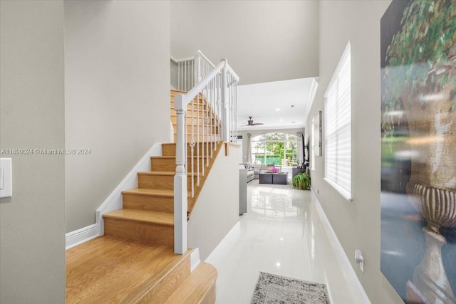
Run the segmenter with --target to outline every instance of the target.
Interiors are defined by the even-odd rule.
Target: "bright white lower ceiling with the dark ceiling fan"
[[[237,129],[285,130],[304,127],[317,86],[316,78],[239,85]],[[252,116],[254,123],[263,122],[264,125],[246,126],[249,116]]]

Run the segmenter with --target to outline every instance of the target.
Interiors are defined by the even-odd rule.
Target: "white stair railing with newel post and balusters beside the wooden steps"
[[[207,174],[209,160],[221,147],[220,142],[237,142],[238,75],[226,59],[214,66],[200,51],[192,66],[193,79],[200,80],[187,94],[175,95],[174,231],[175,253],[180,254],[187,251],[187,196],[195,196],[196,187]],[[187,189],[187,178],[191,179],[191,189]]]

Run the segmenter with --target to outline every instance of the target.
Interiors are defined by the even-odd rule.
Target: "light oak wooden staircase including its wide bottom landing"
[[[172,90],[170,96],[174,127],[176,93],[180,91]],[[207,109],[211,110],[202,98],[193,110],[189,105],[187,128],[191,127],[192,117],[202,120],[202,112]],[[204,140],[218,134],[217,118],[212,120],[212,125],[204,127]],[[212,159],[200,159],[200,166],[203,163],[208,166],[204,168],[204,176],[199,176],[199,186],[195,184],[196,178],[193,182],[190,176],[187,178],[190,214],[209,169],[222,150],[215,142],[200,147],[205,150],[210,147]],[[192,250],[183,255],[173,250],[175,151],[175,143],[162,144],[162,156],[150,157],[150,171],[138,172],[138,188],[122,192],[123,209],[103,214],[104,236],[68,249],[66,303],[215,302],[215,268],[199,263],[190,272]],[[187,151],[190,162],[190,149]],[[192,184],[194,197],[190,195]]]

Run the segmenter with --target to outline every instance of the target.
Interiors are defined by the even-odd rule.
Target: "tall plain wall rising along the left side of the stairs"
[[[65,1],[66,231],[170,140],[169,1]]]

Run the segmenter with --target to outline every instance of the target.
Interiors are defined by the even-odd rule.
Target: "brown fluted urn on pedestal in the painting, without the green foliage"
[[[452,68],[452,74],[455,71]],[[446,241],[440,234],[440,227],[456,226],[456,110],[452,110],[452,94],[456,94],[456,84],[449,83],[442,90],[424,92],[421,98],[428,99],[425,103],[417,100],[418,95],[403,99],[410,147],[416,157],[411,162],[407,194],[427,221],[423,228],[425,256],[415,268],[413,283],[431,303],[456,303],[442,263],[441,248]]]

